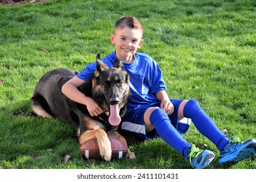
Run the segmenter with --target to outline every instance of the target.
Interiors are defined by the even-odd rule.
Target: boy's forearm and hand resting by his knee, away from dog
[[[174,110],[173,103],[171,103],[165,90],[159,90],[158,92],[156,92],[156,98],[159,101],[161,101],[161,105],[160,105],[161,109],[164,109],[168,115],[173,113],[173,110]]]

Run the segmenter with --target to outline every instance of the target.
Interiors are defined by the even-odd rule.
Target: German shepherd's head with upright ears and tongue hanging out
[[[102,109],[110,112],[109,123],[119,125],[121,122],[120,110],[126,106],[130,95],[129,75],[124,71],[120,60],[115,60],[114,66],[108,68],[98,54],[96,64],[96,71],[92,79],[92,98],[98,104],[102,104],[100,105]]]

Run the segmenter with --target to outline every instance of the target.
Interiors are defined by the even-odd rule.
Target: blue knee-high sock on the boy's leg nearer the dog
[[[191,148],[191,144],[186,142],[175,127],[173,127],[166,112],[160,108],[155,109],[150,114],[149,119],[158,135],[188,160],[188,149]]]

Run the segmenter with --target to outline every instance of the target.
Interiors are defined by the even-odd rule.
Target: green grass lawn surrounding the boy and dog
[[[109,34],[123,15],[143,23],[145,43],[139,51],[160,65],[169,98],[197,99],[229,137],[255,138],[255,13],[253,0],[0,5],[0,168],[190,168],[160,138],[128,138],[135,161],[85,162],[68,125],[31,116],[38,79],[54,68],[82,70],[97,53],[111,53]],[[218,149],[194,125],[184,138],[216,153],[210,168],[256,168],[255,157],[218,164]],[[66,155],[70,160],[63,164]]]

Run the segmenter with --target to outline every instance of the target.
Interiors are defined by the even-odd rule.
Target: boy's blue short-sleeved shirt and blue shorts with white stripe
[[[117,60],[115,52],[110,53],[102,62],[112,67]],[[122,120],[121,129],[135,133],[135,135],[150,139],[158,136],[156,131],[146,133],[144,123],[144,113],[149,107],[160,107],[160,101],[156,99],[156,93],[160,90],[166,90],[162,72],[157,62],[149,55],[144,53],[135,53],[132,63],[124,64],[124,70],[130,76],[130,96],[128,100],[128,110]],[[79,79],[89,80],[96,70],[96,62],[89,64],[83,71],[78,73]],[[169,115],[171,123],[180,134],[186,133],[190,126],[190,120],[187,123],[177,121],[178,106],[182,100],[171,99],[174,105],[173,114]]]

